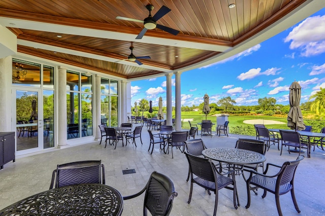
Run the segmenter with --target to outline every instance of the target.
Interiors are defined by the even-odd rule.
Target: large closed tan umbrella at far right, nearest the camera
[[[304,130],[303,114],[300,109],[301,86],[298,82],[291,83],[289,87],[289,103],[290,110],[287,117],[287,125],[293,130]]]

